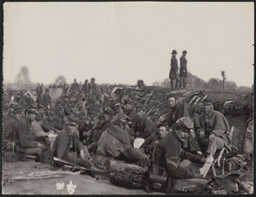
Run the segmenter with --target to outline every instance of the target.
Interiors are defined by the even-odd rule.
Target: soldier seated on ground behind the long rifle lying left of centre
[[[68,117],[65,128],[55,139],[52,156],[90,168],[92,165],[90,155],[87,148],[79,141],[79,136],[76,133],[78,130],[77,120],[74,116]],[[61,167],[63,164],[55,162],[55,165]]]

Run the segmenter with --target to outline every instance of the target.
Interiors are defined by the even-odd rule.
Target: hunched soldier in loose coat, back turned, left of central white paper
[[[131,144],[131,136],[126,131],[129,129],[129,120],[130,118],[124,113],[120,113],[113,119],[113,125],[110,125],[102,133],[98,142],[97,154],[114,159],[123,159],[127,163],[139,165],[144,169],[148,168],[148,156],[138,148],[133,148]]]

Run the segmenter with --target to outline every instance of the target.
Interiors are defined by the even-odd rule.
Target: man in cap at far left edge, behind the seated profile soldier
[[[22,116],[22,108],[14,107],[13,113],[9,120],[3,126],[3,139],[13,141],[15,130],[17,130],[18,120]]]

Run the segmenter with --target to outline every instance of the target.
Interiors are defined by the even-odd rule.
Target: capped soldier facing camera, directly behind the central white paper
[[[154,133],[154,123],[145,115],[145,107],[138,104],[137,111],[137,123],[134,125],[135,137],[142,137],[146,139],[148,136]]]

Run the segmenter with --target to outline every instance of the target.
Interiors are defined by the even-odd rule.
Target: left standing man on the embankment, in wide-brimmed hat
[[[169,72],[169,78],[171,79],[171,88],[178,88],[178,70],[177,70],[177,50],[172,50],[171,58],[171,70]]]

